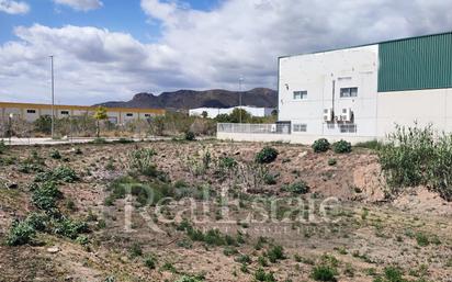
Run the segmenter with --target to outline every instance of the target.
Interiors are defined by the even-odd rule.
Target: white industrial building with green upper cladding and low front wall
[[[218,138],[384,139],[395,125],[452,131],[452,33],[279,58],[279,123],[218,124]]]

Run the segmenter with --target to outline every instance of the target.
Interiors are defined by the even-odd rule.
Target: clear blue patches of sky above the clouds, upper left
[[[52,0],[30,0],[30,12],[24,15],[0,13],[0,43],[14,40],[18,25],[39,23],[47,26],[79,25],[108,29],[132,34],[142,42],[156,42],[160,33],[158,21],[148,21],[139,0],[102,0],[102,8],[86,12]],[[185,4],[208,11],[218,4],[215,0],[188,0]]]

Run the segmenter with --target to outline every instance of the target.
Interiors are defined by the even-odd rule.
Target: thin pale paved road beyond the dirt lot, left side
[[[95,138],[70,138],[70,139],[52,139],[52,138],[16,138],[12,137],[11,142],[9,138],[0,138],[5,145],[21,146],[21,145],[60,145],[60,144],[81,144],[89,143]],[[104,138],[105,140],[112,142],[120,138]],[[169,140],[171,137],[148,137],[145,140]],[[139,138],[134,138],[134,140],[142,140]]]

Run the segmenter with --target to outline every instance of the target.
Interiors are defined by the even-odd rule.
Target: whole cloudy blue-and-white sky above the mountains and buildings
[[[278,57],[452,31],[444,0],[0,0],[0,101],[276,89]]]

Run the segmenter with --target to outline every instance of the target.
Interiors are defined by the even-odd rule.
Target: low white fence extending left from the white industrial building
[[[218,123],[218,133],[250,133],[250,134],[291,134],[291,125],[251,124],[251,123]]]

